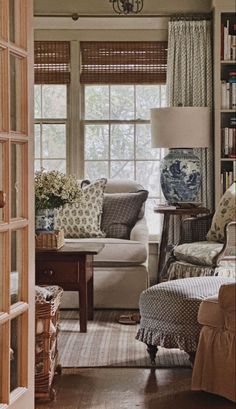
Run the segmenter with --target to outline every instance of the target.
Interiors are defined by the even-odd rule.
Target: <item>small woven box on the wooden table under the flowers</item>
[[[58,250],[64,245],[64,230],[37,233],[35,243],[36,248]]]

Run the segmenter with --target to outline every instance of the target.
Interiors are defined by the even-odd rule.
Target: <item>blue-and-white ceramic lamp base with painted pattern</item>
[[[161,188],[167,202],[196,201],[200,184],[200,160],[193,150],[170,149],[161,162]]]

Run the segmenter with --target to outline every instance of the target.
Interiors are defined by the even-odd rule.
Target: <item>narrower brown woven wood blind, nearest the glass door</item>
[[[70,83],[70,42],[34,42],[35,84]]]

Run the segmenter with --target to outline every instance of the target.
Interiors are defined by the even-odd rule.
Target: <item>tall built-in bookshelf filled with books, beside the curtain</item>
[[[215,204],[236,180],[236,15],[232,0],[214,7]]]

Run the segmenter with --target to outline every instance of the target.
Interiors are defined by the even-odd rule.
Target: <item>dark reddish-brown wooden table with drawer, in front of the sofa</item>
[[[93,319],[93,256],[104,244],[66,243],[59,250],[36,249],[36,284],[79,292],[80,332]]]

